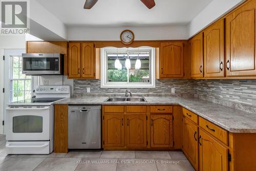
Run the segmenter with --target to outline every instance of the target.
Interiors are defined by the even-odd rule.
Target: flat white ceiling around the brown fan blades
[[[90,10],[86,0],[36,0],[68,27],[187,25],[212,0],[155,0],[147,9],[139,0],[99,0]]]

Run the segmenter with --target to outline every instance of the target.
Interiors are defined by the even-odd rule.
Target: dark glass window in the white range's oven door
[[[12,123],[13,133],[42,133],[41,116],[15,116]]]

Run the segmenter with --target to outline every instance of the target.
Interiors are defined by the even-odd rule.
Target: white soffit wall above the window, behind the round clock
[[[186,26],[152,27],[74,27],[68,28],[68,40],[120,40],[120,33],[130,29],[135,40],[187,39]]]

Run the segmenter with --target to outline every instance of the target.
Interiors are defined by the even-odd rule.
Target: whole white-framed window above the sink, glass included
[[[155,88],[155,48],[102,48],[101,88]]]

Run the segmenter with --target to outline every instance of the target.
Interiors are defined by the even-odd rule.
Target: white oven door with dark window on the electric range
[[[51,108],[53,106],[9,106],[6,140],[50,140]]]

